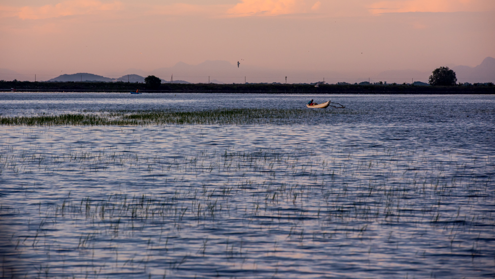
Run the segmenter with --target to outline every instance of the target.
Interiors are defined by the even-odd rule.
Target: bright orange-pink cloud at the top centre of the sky
[[[320,7],[314,0],[242,0],[227,12],[233,16],[263,16],[305,13]]]

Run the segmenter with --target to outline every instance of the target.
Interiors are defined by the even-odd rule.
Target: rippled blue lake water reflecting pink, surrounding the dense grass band
[[[0,93],[0,117],[238,108],[297,113],[1,125],[2,278],[495,277],[494,95]]]

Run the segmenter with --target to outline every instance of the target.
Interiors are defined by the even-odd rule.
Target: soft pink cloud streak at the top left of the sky
[[[94,13],[96,11],[118,10],[122,3],[118,0],[66,0],[55,5],[41,7],[24,6],[15,13],[21,19],[45,19],[68,15]]]

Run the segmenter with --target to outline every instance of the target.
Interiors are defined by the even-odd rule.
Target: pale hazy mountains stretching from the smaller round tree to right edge
[[[297,71],[297,70],[277,70],[262,68],[244,63],[240,61],[240,67],[237,67],[237,61],[231,63],[222,60],[207,60],[198,65],[190,65],[184,62],[178,62],[172,67],[158,68],[152,71],[151,74],[170,80],[173,75],[175,79],[187,80],[193,83],[207,83],[210,78],[210,83],[244,83],[244,77],[247,77],[246,82],[279,82],[285,83],[285,76],[288,76],[288,83],[311,83],[327,78],[329,83],[337,83],[339,81],[355,82],[359,80],[358,75],[349,73],[339,73],[333,71]],[[439,65],[439,67],[442,65]],[[487,57],[483,62],[476,67],[469,66],[455,66],[451,67],[457,75],[459,82],[470,83],[485,83],[495,81],[495,58]],[[411,82],[423,82],[427,83],[428,78],[432,74],[431,69],[429,71],[418,71],[411,69],[399,69],[383,71],[373,77],[371,75],[372,82],[387,81],[387,83],[411,83]],[[305,78],[308,77],[308,78]],[[255,79],[255,80],[249,80]],[[363,81],[363,80],[359,80]],[[175,82],[175,81],[174,81]]]

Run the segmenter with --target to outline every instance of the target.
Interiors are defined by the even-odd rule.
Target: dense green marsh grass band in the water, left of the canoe
[[[300,124],[317,121],[329,114],[357,113],[346,110],[277,110],[277,109],[231,109],[211,111],[114,111],[85,112],[80,114],[0,116],[0,125],[64,126],[64,125],[167,125],[167,124]]]

